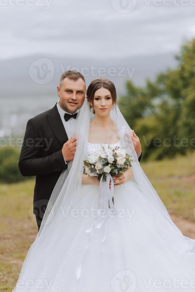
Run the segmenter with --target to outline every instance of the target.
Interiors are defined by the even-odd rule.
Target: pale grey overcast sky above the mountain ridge
[[[178,52],[195,35],[195,0],[0,0],[0,6],[1,59]]]

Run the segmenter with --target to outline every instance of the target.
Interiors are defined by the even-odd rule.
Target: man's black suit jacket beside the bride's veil
[[[67,141],[57,102],[53,108],[28,120],[18,166],[22,175],[36,175],[33,213],[40,218],[61,172],[67,168],[62,155]]]

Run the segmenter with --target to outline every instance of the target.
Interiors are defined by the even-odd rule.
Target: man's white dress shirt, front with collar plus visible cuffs
[[[64,114],[70,114],[70,113],[67,113],[66,111],[64,111],[60,106],[59,106],[59,101],[57,102],[57,108],[58,108],[58,112],[60,114],[60,117],[61,117],[61,120],[63,122],[63,125],[64,125],[64,128],[65,128],[65,131],[66,131],[66,134],[68,136],[68,139],[73,135],[74,131],[76,130],[76,119],[72,119],[70,118],[68,121],[65,121],[64,119]],[[75,111],[75,113],[78,113],[79,110]],[[141,151],[142,153],[142,151]],[[137,158],[140,157],[141,153],[139,155],[137,155]],[[64,159],[64,161],[66,162],[66,160]],[[67,162],[66,162],[67,163]]]

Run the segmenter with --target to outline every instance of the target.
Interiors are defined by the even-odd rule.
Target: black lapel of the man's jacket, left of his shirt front
[[[68,136],[64,129],[60,114],[58,112],[57,102],[55,106],[51,108],[50,113],[46,116],[54,135],[60,142],[61,146],[63,146],[64,143],[68,140]]]

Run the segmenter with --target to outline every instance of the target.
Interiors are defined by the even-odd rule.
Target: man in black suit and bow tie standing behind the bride
[[[22,175],[36,175],[33,213],[38,230],[55,184],[67,169],[66,161],[75,155],[77,142],[72,133],[86,96],[84,76],[72,70],[64,72],[57,91],[55,106],[28,120],[18,163]],[[134,131],[131,139],[140,161],[142,148]]]

